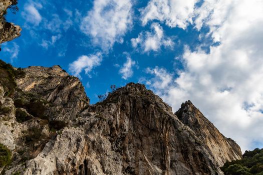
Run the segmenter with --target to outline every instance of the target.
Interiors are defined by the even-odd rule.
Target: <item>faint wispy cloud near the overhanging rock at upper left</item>
[[[38,26],[39,23],[42,20],[42,16],[39,13],[39,9],[42,8],[42,5],[40,3],[27,3],[24,6],[24,11],[22,12],[22,16],[25,18],[25,20],[35,26]]]

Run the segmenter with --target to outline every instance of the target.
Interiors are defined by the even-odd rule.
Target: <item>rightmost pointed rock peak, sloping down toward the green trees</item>
[[[222,166],[226,160],[229,161],[242,157],[241,149],[236,142],[221,134],[213,123],[211,123],[190,100],[182,103],[180,109],[177,110],[175,114],[202,139],[220,166]]]

